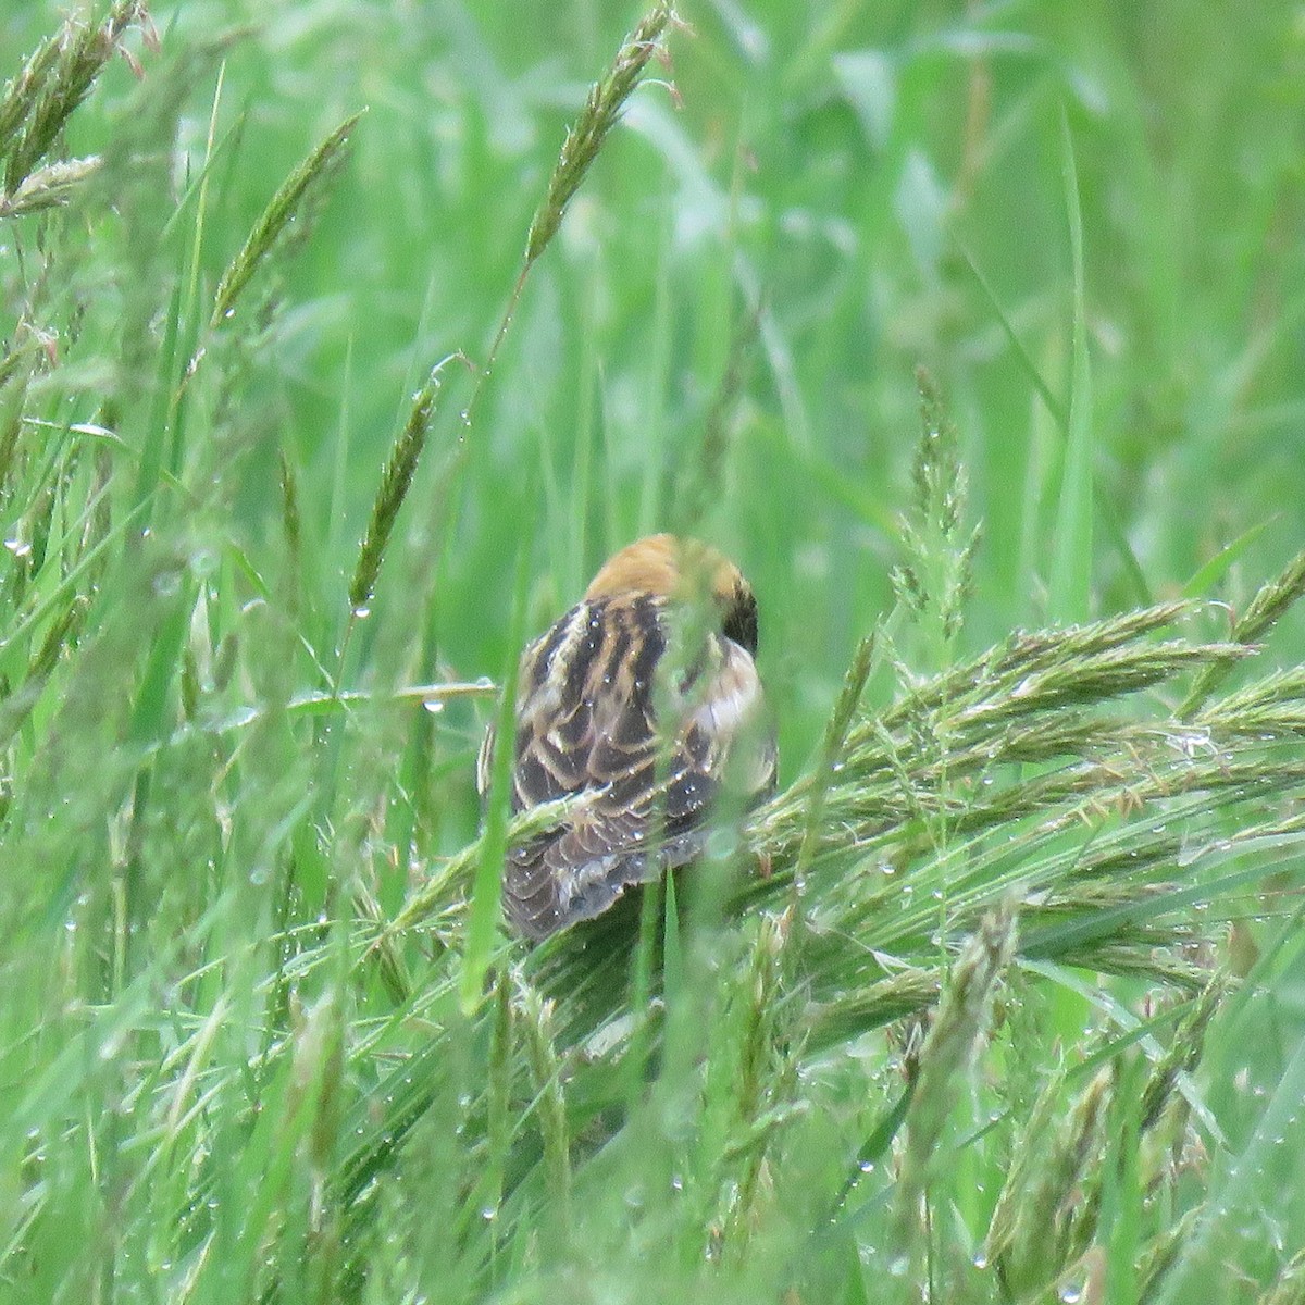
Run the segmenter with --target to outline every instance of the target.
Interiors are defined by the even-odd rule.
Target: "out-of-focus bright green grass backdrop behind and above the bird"
[[[10,7],[8,67],[55,13]],[[450,668],[499,673],[525,525],[538,628],[611,548],[669,519],[732,333],[757,305],[724,492],[702,529],[761,594],[786,767],[810,746],[855,639],[890,604],[917,363],[944,386],[985,523],[967,642],[1041,620],[1064,441],[1030,365],[1064,403],[1062,123],[1084,232],[1096,609],[1181,590],[1258,527],[1211,595],[1237,603],[1295,551],[1295,5],[690,0],[680,13],[689,30],[664,72],[675,93],[646,86],[629,107],[531,277],[467,436],[440,573]],[[222,151],[198,258],[210,284],[291,167],[367,110],[284,273],[273,356],[251,380],[261,432],[227,471],[232,529],[257,556],[279,512],[277,446],[301,468],[322,603],[352,565],[416,381],[454,350],[484,359],[565,124],[637,17],[612,3],[157,10],[166,48],[252,25],[226,54],[217,100]],[[74,119],[74,154],[106,145],[130,81],[125,65],[111,69]],[[207,68],[187,98],[192,168],[217,85]],[[161,258],[146,275],[172,270]],[[13,301],[13,251],[3,270]],[[377,626],[429,596],[440,544],[423,532],[423,502],[468,388],[450,375]]]

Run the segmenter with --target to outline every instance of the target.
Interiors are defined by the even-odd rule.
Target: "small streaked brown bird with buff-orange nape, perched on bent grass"
[[[509,848],[502,902],[539,941],[701,853],[722,790],[775,787],[778,748],[757,652],[757,599],[722,553],[650,535],[521,655],[510,809],[579,803]],[[476,786],[488,800],[495,728]]]

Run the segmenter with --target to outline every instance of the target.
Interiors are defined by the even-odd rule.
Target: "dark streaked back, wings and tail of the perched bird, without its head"
[[[680,689],[683,723],[663,740],[654,710],[662,617],[660,600],[647,596],[582,603],[522,658],[513,809],[589,797],[509,852],[505,903],[531,937],[598,915],[626,885],[690,860],[731,745],[758,715],[752,658],[711,636]],[[760,735],[745,774],[731,775],[749,797],[774,780],[774,741]]]

